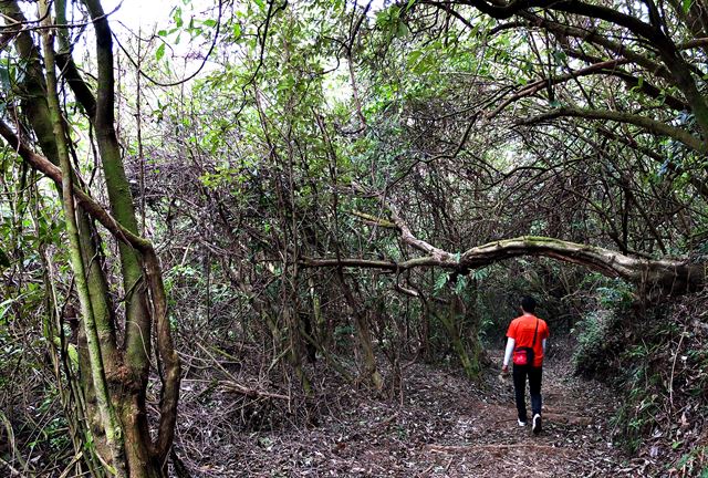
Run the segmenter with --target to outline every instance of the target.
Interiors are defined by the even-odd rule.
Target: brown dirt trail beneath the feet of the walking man
[[[500,362],[501,356],[494,358]],[[549,362],[541,434],[517,425],[511,381],[500,381],[487,403],[482,398],[461,407],[459,422],[467,424],[462,439],[449,437],[425,447],[437,465],[430,476],[618,476],[623,459],[608,424],[615,398],[601,384],[570,376],[563,363]],[[528,396],[527,406],[530,414]]]

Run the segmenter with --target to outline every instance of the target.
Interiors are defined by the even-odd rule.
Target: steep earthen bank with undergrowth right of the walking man
[[[613,439],[662,476],[708,476],[708,291],[646,308],[622,287],[598,292],[573,364],[623,398]]]

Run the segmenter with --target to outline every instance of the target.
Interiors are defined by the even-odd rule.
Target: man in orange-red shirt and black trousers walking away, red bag
[[[531,393],[531,430],[541,432],[541,378],[543,376],[543,354],[549,337],[549,326],[543,319],[534,315],[535,300],[532,297],[521,299],[521,315],[509,324],[507,331],[507,350],[501,367],[503,375],[509,374],[509,361],[513,362],[513,389],[519,412],[519,426],[525,426],[527,416],[527,377]]]

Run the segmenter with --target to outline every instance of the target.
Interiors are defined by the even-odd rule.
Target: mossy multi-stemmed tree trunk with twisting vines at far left
[[[0,1],[8,20],[24,76],[14,91],[20,98],[38,144],[46,157],[38,155],[21,137],[21,128],[0,124],[0,134],[32,167],[48,174],[62,187],[70,256],[82,305],[83,339],[80,344],[81,388],[86,396],[87,439],[111,474],[158,477],[171,447],[179,391],[179,360],[167,322],[166,297],[160,267],[152,245],[137,236],[137,220],[114,128],[113,45],[108,21],[100,1],[85,0],[96,31],[97,87],[95,93],[73,64],[60,30],[54,53],[52,15],[44,15],[44,54],[21,25],[27,24],[17,1]],[[46,4],[44,3],[46,8]],[[65,23],[65,2],[54,2],[59,24]],[[17,23],[15,23],[17,22]],[[45,67],[40,61],[44,58]],[[58,101],[55,64],[96,132],[111,212],[103,210],[83,190],[70,162],[70,138]],[[55,165],[61,165],[61,169]],[[117,239],[121,252],[122,285],[126,297],[125,340],[117,343],[116,309],[108,294],[103,269],[97,219]],[[147,422],[146,389],[150,364],[150,336],[156,337],[157,358],[163,365],[160,416],[156,438]],[[80,406],[80,404],[75,404]],[[91,449],[88,447],[87,449]],[[101,474],[101,471],[96,471]]]

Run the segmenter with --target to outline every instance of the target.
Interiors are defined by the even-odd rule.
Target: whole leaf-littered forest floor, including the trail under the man
[[[490,358],[500,363],[501,352]],[[416,363],[403,372],[395,399],[345,385],[326,391],[316,426],[281,424],[226,436],[225,424],[237,427],[233,414],[242,417],[243,407],[229,412],[228,401],[217,401],[211,412],[187,414],[179,455],[200,477],[658,476],[647,469],[649,460],[631,459],[613,445],[610,422],[618,404],[612,391],[573,377],[568,362],[546,361],[538,436],[517,425],[510,380],[488,372],[473,384]],[[204,435],[210,426],[214,435]],[[200,443],[211,445],[189,449],[197,429]]]

